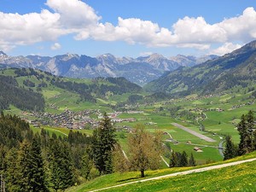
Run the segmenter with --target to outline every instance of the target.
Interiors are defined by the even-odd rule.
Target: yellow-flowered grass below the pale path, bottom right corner
[[[256,163],[252,162],[104,191],[255,191],[255,174]]]

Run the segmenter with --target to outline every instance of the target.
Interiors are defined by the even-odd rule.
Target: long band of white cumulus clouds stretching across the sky
[[[55,42],[59,37],[73,34],[74,39],[125,41],[148,47],[177,46],[181,48],[210,49],[211,44],[256,38],[256,12],[247,8],[242,15],[209,24],[203,17],[184,17],[171,28],[160,27],[150,20],[118,18],[118,24],[102,23],[96,10],[80,0],[47,0],[49,9],[26,15],[0,12],[0,48],[12,49],[18,45],[37,42]],[[224,44],[222,50],[232,47]],[[52,48],[57,48],[53,46]],[[218,52],[218,50],[214,50]],[[219,52],[219,53],[220,53]]]

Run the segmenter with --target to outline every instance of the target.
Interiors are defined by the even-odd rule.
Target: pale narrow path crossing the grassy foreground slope
[[[113,186],[110,186],[108,188],[95,189],[95,190],[91,190],[90,192],[101,191],[101,190],[105,190],[105,189],[118,188],[118,187],[122,187],[122,186],[129,185],[129,184],[142,183],[142,182],[157,180],[157,179],[161,179],[161,178],[168,178],[168,177],[174,177],[174,176],[179,176],[179,175],[188,175],[188,174],[191,174],[191,173],[194,173],[194,172],[207,172],[207,171],[210,171],[210,170],[213,170],[213,169],[220,169],[220,168],[224,168],[224,167],[228,167],[228,166],[236,166],[236,165],[246,163],[246,162],[252,162],[254,160],[256,160],[256,158],[249,159],[249,160],[239,160],[239,161],[236,161],[236,162],[226,163],[226,164],[222,164],[222,165],[218,165],[218,166],[207,166],[207,167],[194,169],[194,170],[189,170],[189,171],[185,171],[185,172],[175,172],[175,173],[164,175],[164,176],[151,177],[151,178],[146,178],[146,179],[142,179],[142,180],[134,181],[134,182],[130,182],[130,183],[123,183],[123,184],[113,185]]]

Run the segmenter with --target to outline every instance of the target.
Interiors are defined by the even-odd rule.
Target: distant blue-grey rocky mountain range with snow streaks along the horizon
[[[201,57],[177,55],[166,58],[159,54],[136,59],[115,57],[111,54],[97,57],[76,54],[55,55],[53,57],[40,55],[9,56],[0,51],[0,66],[32,67],[58,76],[80,79],[124,77],[133,83],[144,85],[178,67],[192,67],[217,57],[216,55]]]

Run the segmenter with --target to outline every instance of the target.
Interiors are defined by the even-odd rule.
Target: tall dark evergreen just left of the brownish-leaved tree
[[[93,131],[92,137],[93,160],[101,174],[113,172],[112,152],[115,143],[115,129],[107,113],[104,113],[99,127]]]

